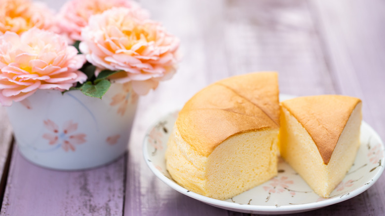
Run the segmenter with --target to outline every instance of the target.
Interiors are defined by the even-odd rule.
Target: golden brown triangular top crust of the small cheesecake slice
[[[281,102],[308,131],[328,164],[351,112],[361,100],[342,95],[298,97]]]

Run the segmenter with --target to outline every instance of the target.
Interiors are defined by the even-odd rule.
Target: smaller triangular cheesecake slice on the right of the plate
[[[281,103],[281,156],[319,196],[328,197],[354,162],[361,107],[358,98],[340,95]]]

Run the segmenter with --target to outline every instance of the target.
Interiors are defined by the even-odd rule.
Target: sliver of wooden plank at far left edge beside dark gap
[[[11,144],[12,128],[9,124],[5,108],[0,105],[0,205],[8,174]]]

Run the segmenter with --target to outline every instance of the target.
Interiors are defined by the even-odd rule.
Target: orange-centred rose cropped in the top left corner
[[[33,27],[53,30],[53,12],[41,2],[1,0],[0,35],[6,31],[21,34]]]

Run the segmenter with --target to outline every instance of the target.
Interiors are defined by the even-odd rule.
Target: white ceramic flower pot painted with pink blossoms
[[[137,101],[130,83],[114,83],[102,100],[78,90],[38,90],[6,109],[25,158],[47,168],[79,170],[124,154]]]

